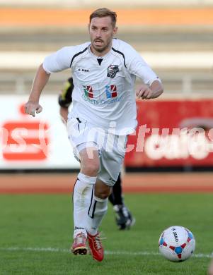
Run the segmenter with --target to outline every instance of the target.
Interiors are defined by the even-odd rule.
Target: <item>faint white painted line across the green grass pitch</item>
[[[68,249],[54,248],[54,247],[0,247],[1,251],[33,251],[33,252],[59,252],[59,253],[70,253]],[[109,251],[105,250],[105,255],[127,255],[127,256],[159,256],[159,252],[148,252],[148,251]],[[212,258],[212,254],[194,254],[195,258]]]

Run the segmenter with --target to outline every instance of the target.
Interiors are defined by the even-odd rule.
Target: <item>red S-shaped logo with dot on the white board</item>
[[[23,105],[20,113],[25,115]],[[43,161],[47,159],[49,126],[22,116],[20,121],[6,121],[3,127],[3,152],[6,161]]]

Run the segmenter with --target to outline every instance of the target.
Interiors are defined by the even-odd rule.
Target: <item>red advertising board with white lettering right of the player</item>
[[[213,166],[213,100],[139,101],[137,119],[125,166]]]

